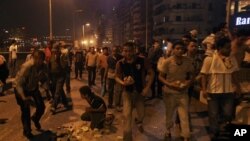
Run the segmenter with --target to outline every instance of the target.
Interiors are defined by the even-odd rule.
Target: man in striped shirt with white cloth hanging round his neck
[[[239,68],[235,57],[230,56],[230,40],[226,37],[219,39],[216,48],[213,56],[205,58],[201,69],[202,91],[208,100],[211,140],[216,139],[219,134],[220,119],[222,125],[231,122],[234,113],[234,93],[240,92],[239,84],[234,77],[234,72]]]

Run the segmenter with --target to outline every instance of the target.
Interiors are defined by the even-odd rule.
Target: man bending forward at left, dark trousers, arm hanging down
[[[14,85],[17,104],[21,108],[21,120],[23,124],[23,135],[32,138],[31,121],[37,129],[41,129],[39,120],[44,114],[45,105],[39,92],[39,81],[41,74],[46,72],[44,64],[45,54],[42,51],[35,51],[34,58],[25,62],[17,73]],[[30,117],[30,100],[34,100],[36,112]]]

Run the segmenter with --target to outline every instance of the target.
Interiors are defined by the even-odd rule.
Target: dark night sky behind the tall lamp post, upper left
[[[77,22],[96,23],[98,13],[111,9],[118,0],[52,0],[53,34],[72,33],[73,11]],[[0,0],[0,28],[25,27],[27,34],[49,34],[49,0]],[[70,29],[71,33],[67,33]]]

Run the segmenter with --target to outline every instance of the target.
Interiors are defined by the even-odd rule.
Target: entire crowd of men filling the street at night
[[[52,114],[56,114],[59,103],[66,109],[71,108],[67,93],[71,90],[70,74],[74,68],[75,79],[88,79],[88,86],[79,90],[92,110],[88,109],[90,113],[82,115],[82,119],[97,123],[100,122],[96,120],[103,121],[100,114],[96,113],[101,111],[104,113],[101,117],[105,118],[106,104],[101,97],[108,94],[107,108],[123,111],[126,119],[123,126],[124,141],[132,141],[133,120],[138,130],[144,132],[144,103],[155,98],[163,99],[165,103],[164,139],[171,139],[175,116],[180,122],[181,137],[185,141],[189,140],[190,98],[197,91],[202,91],[208,100],[209,134],[212,140],[216,139],[221,127],[225,127],[234,118],[235,95],[241,93],[235,73],[241,66],[250,64],[250,36],[249,33],[232,35],[225,24],[215,28],[202,42],[199,42],[197,36],[197,31],[192,30],[179,40],[155,40],[148,51],[129,42],[122,47],[103,47],[99,52],[94,47],[90,47],[89,51],[80,48],[72,51],[68,45],[51,42],[43,51],[31,48],[31,53],[16,75],[17,49],[13,42],[9,48],[10,73],[6,75],[15,77],[15,96],[21,109],[24,136],[33,136],[31,120],[37,129],[41,129],[39,121],[45,109],[39,91],[41,87],[51,102]],[[198,46],[205,49],[204,53],[198,52]],[[2,56],[0,65],[2,77],[3,68],[7,68],[7,61]],[[83,78],[84,70],[88,74],[87,78]],[[96,85],[98,72],[101,75],[102,90],[96,96],[91,88]],[[6,79],[7,77],[1,78],[2,83],[6,83]],[[36,112],[32,116],[30,99],[36,105]],[[137,111],[135,119],[132,119],[133,108]],[[89,115],[92,113],[95,113],[94,116]],[[103,127],[94,123],[91,126]]]

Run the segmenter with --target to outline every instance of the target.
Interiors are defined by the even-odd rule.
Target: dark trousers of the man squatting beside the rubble
[[[83,121],[90,121],[90,128],[94,129],[94,128],[98,128],[101,129],[103,128],[103,124],[105,121],[105,113],[103,112],[98,112],[98,113],[94,113],[94,112],[85,112],[81,115],[81,119]]]

